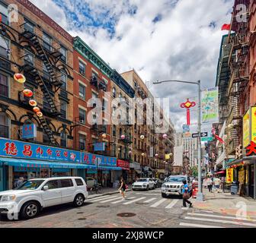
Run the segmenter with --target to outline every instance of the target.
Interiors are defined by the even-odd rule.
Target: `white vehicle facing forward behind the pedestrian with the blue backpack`
[[[168,197],[171,194],[180,195],[182,197],[183,182],[186,180],[188,187],[192,191],[192,185],[187,175],[170,175],[162,185],[162,197]]]

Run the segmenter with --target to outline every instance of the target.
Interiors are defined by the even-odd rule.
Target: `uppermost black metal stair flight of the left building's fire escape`
[[[50,63],[49,58],[46,55],[46,52],[43,49],[43,46],[40,44],[39,39],[34,33],[31,33],[28,30],[25,30],[23,33],[23,36],[30,40],[30,42],[34,45],[35,49],[37,49],[37,53],[40,56],[41,60],[43,61],[48,73],[50,74],[50,83],[53,84],[56,87],[61,87],[62,82],[59,80],[56,80],[56,75],[53,71],[53,66]]]

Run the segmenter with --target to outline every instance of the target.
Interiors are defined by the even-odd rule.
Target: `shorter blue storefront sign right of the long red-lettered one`
[[[101,161],[101,163],[98,163],[98,166],[117,166],[117,158],[94,153],[82,153],[82,163],[84,164],[96,166],[97,159]]]

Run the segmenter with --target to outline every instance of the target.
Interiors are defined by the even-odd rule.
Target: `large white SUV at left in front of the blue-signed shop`
[[[86,183],[81,177],[37,178],[20,187],[0,193],[0,213],[8,219],[30,219],[44,207],[73,203],[81,207],[88,197]]]

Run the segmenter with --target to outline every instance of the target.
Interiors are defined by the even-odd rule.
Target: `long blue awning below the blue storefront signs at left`
[[[44,160],[13,159],[0,157],[0,163],[5,166],[34,167],[34,168],[66,168],[66,169],[89,169],[96,166],[88,166],[79,163],[60,163]]]

